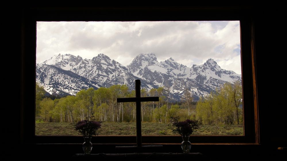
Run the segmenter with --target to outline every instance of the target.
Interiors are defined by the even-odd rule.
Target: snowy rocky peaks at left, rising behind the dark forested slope
[[[104,54],[90,59],[82,59],[71,54],[58,54],[41,64],[53,65],[63,70],[70,70],[80,76],[99,82],[101,86],[128,69],[122,64],[111,60]]]

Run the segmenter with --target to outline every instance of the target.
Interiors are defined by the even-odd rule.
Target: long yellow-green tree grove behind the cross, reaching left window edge
[[[172,103],[168,92],[163,88],[147,91],[141,89],[141,97],[158,96],[158,102],[141,103],[141,120],[148,122],[172,121],[179,111],[180,105]],[[43,87],[36,85],[36,119],[45,122],[76,122],[86,118],[107,122],[132,122],[136,120],[136,103],[117,103],[117,98],[135,97],[135,91],[129,91],[127,85],[112,85],[82,89],[75,96],[66,96],[52,100],[45,97]],[[186,91],[184,106],[191,110],[194,105],[192,95]]]

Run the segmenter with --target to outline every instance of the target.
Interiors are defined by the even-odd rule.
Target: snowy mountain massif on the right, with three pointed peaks
[[[153,53],[139,54],[128,65],[128,69],[135,76],[156,86],[164,86],[176,95],[181,95],[187,88],[193,95],[200,97],[226,82],[241,80],[241,75],[221,69],[213,59],[189,68],[173,58],[158,62]]]

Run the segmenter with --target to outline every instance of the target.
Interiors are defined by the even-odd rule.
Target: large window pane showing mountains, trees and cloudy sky
[[[239,21],[37,22],[36,46],[36,135],[75,135],[86,118],[135,135],[135,103],[116,98],[136,79],[160,100],[142,103],[143,135],[176,135],[175,119],[243,135]]]

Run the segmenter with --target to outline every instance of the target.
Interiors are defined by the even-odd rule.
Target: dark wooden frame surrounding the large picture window
[[[239,20],[244,136],[191,136],[193,143],[259,143],[256,65],[250,7],[36,7],[23,9],[21,25],[22,143],[82,143],[80,136],[35,136],[36,21],[212,21]],[[95,16],[96,15],[96,16]],[[34,71],[34,72],[31,72]],[[34,96],[34,97],[32,97]],[[30,107],[30,108],[29,108]],[[31,108],[33,107],[33,108]],[[97,136],[103,144],[136,143],[135,136]],[[180,136],[142,136],[143,143],[179,143]]]

